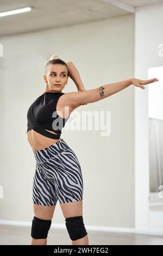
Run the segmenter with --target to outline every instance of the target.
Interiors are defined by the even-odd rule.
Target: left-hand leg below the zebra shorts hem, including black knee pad
[[[42,232],[45,233],[46,230],[48,231],[51,225],[50,221],[53,218],[55,206],[33,204],[33,209],[34,209],[35,217],[40,220],[37,223],[33,222],[33,225],[32,225],[32,234],[34,237],[36,237],[37,233],[42,233]],[[41,229],[40,229],[40,225],[41,225]],[[45,231],[43,231],[43,229]],[[47,245],[47,238],[45,239],[32,238],[31,245]]]

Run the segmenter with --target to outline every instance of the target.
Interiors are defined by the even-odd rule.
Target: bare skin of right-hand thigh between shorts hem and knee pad
[[[60,207],[65,218],[83,215],[83,200],[72,203],[60,203]]]

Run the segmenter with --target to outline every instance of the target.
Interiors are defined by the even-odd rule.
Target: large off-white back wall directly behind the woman
[[[58,54],[79,69],[87,89],[134,76],[134,16],[1,38],[0,220],[31,221],[35,159],[27,141],[27,111],[45,89],[49,56]],[[76,90],[69,80],[64,92]],[[78,111],[111,111],[111,135],[62,131],[83,171],[86,225],[134,228],[134,88],[131,86]],[[67,122],[68,124],[68,122]],[[66,127],[66,126],[65,126]],[[53,221],[65,223],[59,202]]]

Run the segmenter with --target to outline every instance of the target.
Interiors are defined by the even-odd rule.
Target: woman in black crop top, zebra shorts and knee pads
[[[76,83],[78,92],[62,93],[68,76]],[[89,245],[83,222],[82,170],[76,154],[60,138],[61,129],[77,107],[105,99],[131,84],[145,89],[145,84],[158,80],[131,78],[85,90],[73,63],[66,64],[58,56],[50,58],[43,78],[46,83],[45,93],[33,102],[27,113],[28,141],[36,160],[31,244],[47,245],[48,231],[59,200],[72,245]]]

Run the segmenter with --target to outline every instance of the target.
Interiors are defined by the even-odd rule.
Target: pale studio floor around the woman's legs
[[[90,231],[89,245],[163,245],[163,236]],[[0,245],[30,245],[30,227],[0,225]],[[66,229],[51,228],[48,245],[71,245]]]

